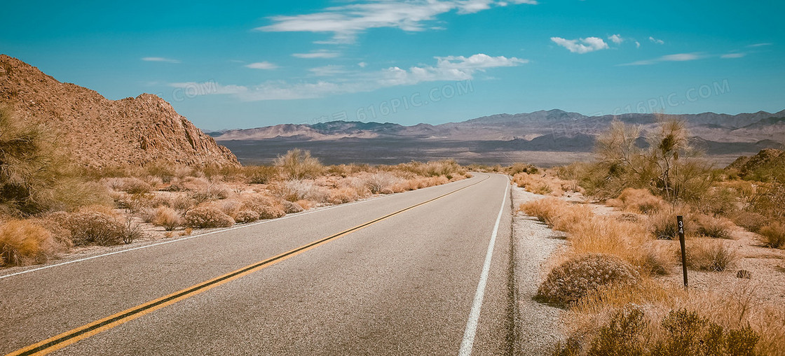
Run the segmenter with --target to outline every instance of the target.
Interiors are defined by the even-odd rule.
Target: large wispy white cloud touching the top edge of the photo
[[[536,4],[533,0],[509,0],[515,4]],[[506,4],[507,2],[505,2]],[[317,13],[294,16],[272,16],[272,24],[255,28],[271,32],[319,32],[332,34],[323,44],[352,43],[356,36],[371,28],[392,27],[403,31],[425,31],[426,22],[436,16],[455,11],[477,13],[491,6],[502,5],[495,0],[412,0],[399,2],[375,0],[333,6]]]

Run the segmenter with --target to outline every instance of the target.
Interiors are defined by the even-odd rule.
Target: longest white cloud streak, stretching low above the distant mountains
[[[414,85],[422,82],[462,81],[474,78],[474,74],[484,72],[495,67],[514,67],[528,63],[516,57],[487,56],[479,53],[473,56],[444,56],[434,57],[436,65],[415,66],[408,69],[389,67],[371,73],[353,73],[342,75],[341,79],[318,82],[290,83],[285,81],[269,81],[259,85],[213,85],[214,90],[206,91],[203,95],[219,94],[231,95],[245,101],[259,100],[294,100],[312,99],[324,96],[345,93],[371,92],[376,89],[398,86]],[[330,74],[342,71],[347,74],[345,67],[326,66],[312,68],[313,74]],[[203,85],[197,82],[171,83],[173,87],[188,87]]]

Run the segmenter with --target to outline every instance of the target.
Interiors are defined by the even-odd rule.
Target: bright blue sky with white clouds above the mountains
[[[782,2],[12,2],[0,53],[203,129],[785,109]]]

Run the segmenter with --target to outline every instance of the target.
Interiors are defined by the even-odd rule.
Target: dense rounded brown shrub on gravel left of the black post
[[[640,275],[619,257],[602,254],[579,256],[550,271],[537,290],[539,299],[568,305],[603,285],[637,283]]]

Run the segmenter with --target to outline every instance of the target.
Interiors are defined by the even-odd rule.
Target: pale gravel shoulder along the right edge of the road
[[[538,303],[533,298],[545,278],[548,258],[566,240],[560,231],[553,231],[537,218],[517,212],[520,204],[543,198],[542,195],[524,191],[524,188],[515,185],[512,195],[518,353],[550,354],[554,345],[564,339],[559,328],[561,310]]]

